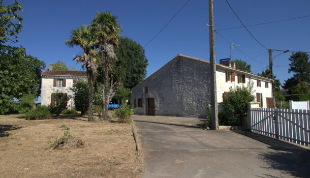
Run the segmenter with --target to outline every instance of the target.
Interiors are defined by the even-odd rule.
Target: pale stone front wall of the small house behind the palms
[[[66,86],[53,86],[54,78],[42,78],[41,105],[51,104],[52,93],[67,93],[68,97],[73,95],[70,87],[73,87],[73,79],[66,78]],[[68,100],[68,107],[74,107],[74,100]]]

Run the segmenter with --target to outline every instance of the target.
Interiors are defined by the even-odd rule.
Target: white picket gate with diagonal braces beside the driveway
[[[250,109],[251,131],[309,146],[310,110]]]

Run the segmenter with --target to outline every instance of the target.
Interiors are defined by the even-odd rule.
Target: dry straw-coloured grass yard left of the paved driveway
[[[53,150],[64,132],[82,139],[79,149]],[[142,165],[130,124],[87,122],[79,115],[26,121],[18,115],[0,115],[1,177],[140,177]]]

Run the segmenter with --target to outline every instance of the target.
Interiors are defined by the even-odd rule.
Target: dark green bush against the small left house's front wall
[[[52,94],[52,98],[54,99],[55,105],[51,106],[51,113],[59,115],[61,111],[67,109],[67,94],[63,93],[54,93]]]

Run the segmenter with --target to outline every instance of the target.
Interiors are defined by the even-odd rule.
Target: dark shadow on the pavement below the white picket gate
[[[262,152],[259,159],[263,159],[268,166],[266,169],[280,170],[295,177],[309,177],[310,175],[310,149],[295,145],[268,136],[252,133],[249,131],[234,131],[238,134],[263,142],[272,149],[271,152]],[[266,175],[265,177],[273,177]]]

